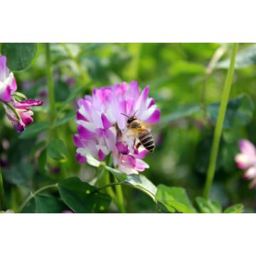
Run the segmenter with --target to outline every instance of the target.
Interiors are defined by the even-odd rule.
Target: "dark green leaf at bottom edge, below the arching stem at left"
[[[62,213],[67,206],[58,198],[53,196],[38,195],[35,197],[36,213]]]

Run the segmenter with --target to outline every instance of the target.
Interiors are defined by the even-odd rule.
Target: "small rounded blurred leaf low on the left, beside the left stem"
[[[53,139],[48,145],[47,154],[52,159],[63,160],[68,156],[68,149],[61,139]]]

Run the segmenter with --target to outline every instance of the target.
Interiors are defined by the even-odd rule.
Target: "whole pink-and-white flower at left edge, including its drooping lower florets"
[[[16,92],[17,85],[14,74],[6,66],[6,56],[0,56],[0,102],[4,103],[6,116],[17,132],[23,132],[26,125],[33,122],[30,107],[43,105],[41,100],[27,100]],[[20,98],[23,100],[20,100]]]

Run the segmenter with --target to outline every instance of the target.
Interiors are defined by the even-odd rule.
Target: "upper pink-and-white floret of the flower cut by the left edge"
[[[11,92],[17,90],[14,74],[6,66],[6,56],[0,56],[0,100],[11,101]]]

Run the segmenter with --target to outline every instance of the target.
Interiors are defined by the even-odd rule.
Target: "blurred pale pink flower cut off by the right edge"
[[[240,154],[235,156],[235,162],[238,168],[246,170],[244,177],[252,179],[250,187],[256,186],[256,148],[247,139],[242,139],[239,142]]]

